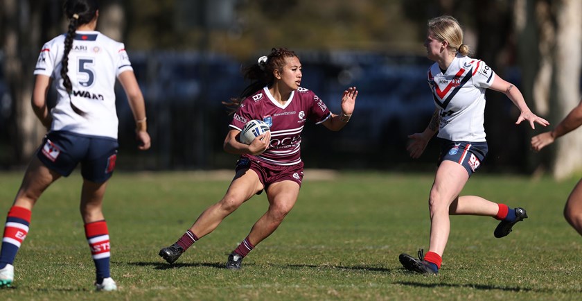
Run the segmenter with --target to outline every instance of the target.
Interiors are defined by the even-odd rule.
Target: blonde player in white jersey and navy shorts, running
[[[437,274],[450,232],[449,215],[492,216],[500,220],[493,232],[500,238],[511,232],[513,225],[527,218],[522,208],[512,209],[479,196],[459,196],[471,174],[487,154],[483,127],[485,90],[502,92],[520,109],[515,124],[529,121],[547,126],[549,123],[533,114],[519,89],[497,76],[481,60],[468,58],[469,48],[463,44],[463,31],[450,16],[430,19],[424,46],[427,57],[435,63],[427,72],[436,110],[424,132],[409,136],[411,157],[419,157],[428,141],[437,136],[441,141],[439,167],[430,189],[430,245],[426,255],[418,259],[401,254],[399,259],[408,270]]]

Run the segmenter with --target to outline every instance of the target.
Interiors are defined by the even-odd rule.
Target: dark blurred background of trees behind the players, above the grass
[[[67,23],[61,0],[0,1],[4,8],[0,12],[0,93],[4,94],[0,166],[10,169],[28,161],[44,134],[30,115],[26,91],[31,88],[42,43],[63,33]],[[118,166],[231,168],[236,156],[222,151],[230,117],[220,102],[237,96],[248,84],[240,74],[242,65],[255,62],[272,47],[283,46],[301,58],[302,85],[314,90],[332,110],[338,110],[343,89],[351,85],[360,89],[354,117],[344,130],[306,128],[303,157],[307,167],[432,170],[438,155],[436,143],[430,144],[420,160],[410,160],[405,152],[406,136],[423,130],[434,110],[425,82],[432,63],[425,58],[423,47],[427,19],[457,17],[472,56],[520,87],[535,110],[533,86],[539,78],[535,70],[541,65],[538,61],[543,61],[538,50],[540,33],[561,31],[556,20],[563,10],[574,7],[577,11],[576,1],[100,1],[98,30],[125,42],[144,92],[153,142],[146,153],[135,150],[133,120],[119,90]],[[540,21],[543,12],[548,16],[547,25]],[[520,20],[526,23],[522,27]],[[581,39],[571,40],[580,44]],[[526,76],[524,62],[534,70],[528,69]],[[574,80],[579,83],[579,74]],[[545,89],[545,101],[560,103],[550,86]],[[490,154],[484,170],[531,173],[552,169],[554,153],[529,151],[532,131],[526,125],[513,124],[519,112],[511,101],[501,93],[487,93]],[[572,101],[563,107],[569,110]],[[548,110],[543,116],[558,121],[562,111],[552,115]]]

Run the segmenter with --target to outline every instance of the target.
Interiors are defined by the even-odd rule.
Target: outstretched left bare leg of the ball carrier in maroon
[[[261,189],[263,189],[263,184],[254,171],[250,169],[238,171],[222,200],[204,210],[190,227],[190,231],[199,239],[209,234],[224,218]]]

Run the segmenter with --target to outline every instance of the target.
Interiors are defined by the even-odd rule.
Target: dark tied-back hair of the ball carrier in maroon
[[[222,104],[227,107],[229,114],[232,114],[243,103],[245,98],[254,94],[263,87],[271,87],[275,81],[273,71],[283,71],[286,58],[299,58],[296,53],[286,48],[273,48],[267,56],[262,56],[256,64],[243,68],[245,80],[253,80],[238,98],[231,98],[229,102],[223,101]]]

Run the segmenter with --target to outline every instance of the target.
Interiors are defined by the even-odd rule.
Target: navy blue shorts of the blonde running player
[[[479,169],[489,150],[487,142],[440,140],[441,154],[438,165],[444,160],[457,162],[467,170],[469,176]]]

